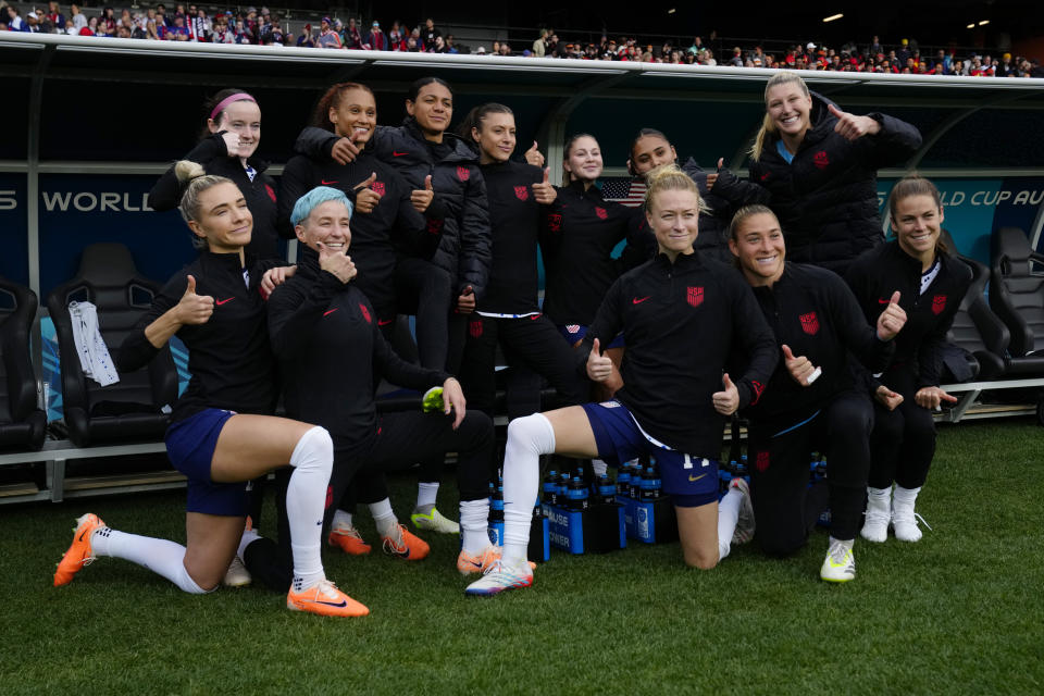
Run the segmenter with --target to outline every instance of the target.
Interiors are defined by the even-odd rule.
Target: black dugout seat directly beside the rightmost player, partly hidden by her
[[[944,239],[950,249],[956,249],[953,239],[945,229]],[[990,281],[990,269],[974,259],[956,254],[955,258],[971,269],[971,285],[960,301],[954,325],[946,339],[962,348],[971,377],[978,380],[993,380],[1005,371],[1004,356],[1008,347],[1010,335],[996,314],[986,303],[986,283]],[[956,358],[955,358],[956,359]],[[947,360],[948,362],[948,360]],[[944,382],[960,382],[949,365],[944,368]],[[967,381],[967,380],[965,380]]]

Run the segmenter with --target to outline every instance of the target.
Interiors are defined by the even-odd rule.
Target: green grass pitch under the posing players
[[[414,481],[393,486],[406,519]],[[350,620],[257,587],[184,595],[114,559],[51,586],[74,518],[184,540],[182,492],[0,508],[0,693],[1040,694],[1042,501],[1044,430],[942,426],[918,501],[934,531],[857,540],[846,585],[820,582],[818,531],[794,558],[748,545],[708,572],[676,544],[554,554],[531,589],[467,598],[456,537],[427,535],[417,563],[327,548],[328,576],[371,609]]]

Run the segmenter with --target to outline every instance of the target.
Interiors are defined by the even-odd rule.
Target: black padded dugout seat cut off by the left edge
[[[0,277],[0,449],[39,449],[47,434],[29,356],[36,307],[33,290]]]

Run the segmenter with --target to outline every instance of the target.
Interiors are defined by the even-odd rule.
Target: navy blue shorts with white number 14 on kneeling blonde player
[[[595,434],[598,457],[619,465],[646,452],[656,456],[663,482],[663,493],[680,508],[698,508],[718,500],[718,462],[691,457],[650,443],[631,415],[627,407],[616,399],[584,403],[584,412]]]

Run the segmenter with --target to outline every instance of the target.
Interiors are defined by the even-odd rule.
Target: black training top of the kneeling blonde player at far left
[[[187,276],[196,278],[197,295],[214,298],[214,313],[206,324],[185,325],[176,334],[188,348],[192,377],[174,405],[172,421],[208,408],[265,414],[275,408],[278,377],[259,291],[262,274],[274,264],[247,259],[249,286],[238,253],[201,251],[166,283],[116,353],[121,372],[137,370],[156,356],[158,350],[145,337],[145,328],[182,300]]]

